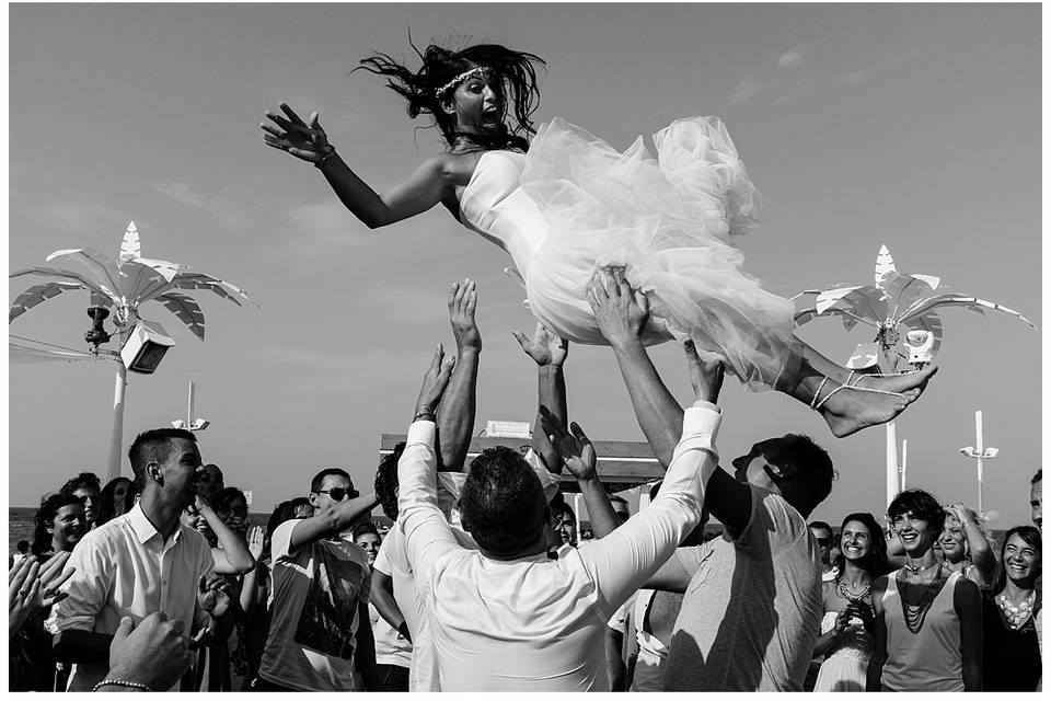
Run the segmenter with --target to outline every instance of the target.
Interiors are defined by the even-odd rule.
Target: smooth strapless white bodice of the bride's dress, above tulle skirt
[[[486,151],[460,196],[460,221],[507,251],[526,276],[547,233],[547,219],[521,187],[526,154]]]

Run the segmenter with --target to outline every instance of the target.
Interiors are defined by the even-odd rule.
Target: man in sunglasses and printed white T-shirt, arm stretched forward
[[[371,691],[377,674],[369,563],[339,533],[368,519],[378,499],[359,496],[343,468],[317,472],[309,498],[314,515],[285,521],[270,540],[273,620],[257,688]]]

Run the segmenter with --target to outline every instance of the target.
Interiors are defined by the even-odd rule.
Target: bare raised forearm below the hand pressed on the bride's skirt
[[[682,436],[682,407],[660,380],[642,341],[623,340],[612,347],[638,425],[657,461],[667,470]]]

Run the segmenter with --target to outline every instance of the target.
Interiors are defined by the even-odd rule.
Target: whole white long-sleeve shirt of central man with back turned
[[[686,410],[682,439],[650,507],[615,531],[503,561],[463,548],[438,507],[435,424],[408,430],[397,467],[399,521],[424,601],[442,691],[607,691],[610,617],[701,520],[718,464],[717,406]]]

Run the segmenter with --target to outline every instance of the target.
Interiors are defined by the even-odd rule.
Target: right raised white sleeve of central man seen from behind
[[[603,617],[611,617],[701,522],[704,490],[719,463],[715,438],[720,422],[721,412],[715,404],[698,401],[688,409],[682,438],[649,507],[605,538],[580,547]]]

